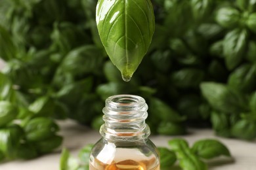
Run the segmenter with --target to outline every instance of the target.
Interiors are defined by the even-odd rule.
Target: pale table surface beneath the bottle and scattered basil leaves
[[[76,156],[79,148],[85,144],[95,143],[100,139],[98,131],[78,125],[71,120],[66,120],[59,124],[61,126],[60,134],[64,136],[62,147],[68,148],[73,156]],[[209,169],[256,170],[256,142],[216,137],[211,129],[191,129],[189,135],[180,137],[187,139],[190,144],[198,139],[215,138],[228,146],[235,162],[231,162],[229,159],[219,158],[209,163]],[[150,137],[157,146],[167,146],[167,141],[173,138],[162,135]],[[0,170],[58,170],[60,152],[61,148],[52,154],[47,154],[34,160],[3,163],[0,165]]]

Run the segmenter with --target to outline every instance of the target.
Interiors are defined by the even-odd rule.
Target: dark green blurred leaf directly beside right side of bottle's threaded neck
[[[185,116],[179,115],[169,105],[154,97],[150,99],[148,112],[150,117],[156,118],[156,120],[160,119],[167,122],[183,122],[186,120]]]

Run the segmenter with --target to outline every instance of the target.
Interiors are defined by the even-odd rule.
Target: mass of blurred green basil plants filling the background
[[[255,139],[256,2],[152,3],[152,44],[123,82],[98,37],[95,0],[0,1],[0,160],[51,152],[62,143],[56,120],[98,129],[104,100],[121,93],[146,99],[154,134],[212,127]]]

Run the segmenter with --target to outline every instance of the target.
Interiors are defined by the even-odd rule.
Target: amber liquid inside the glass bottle
[[[95,166],[90,164],[90,169],[92,170],[160,170],[159,165],[154,165],[156,160],[124,160],[115,162],[112,161],[110,165],[102,163],[98,160],[95,162]]]

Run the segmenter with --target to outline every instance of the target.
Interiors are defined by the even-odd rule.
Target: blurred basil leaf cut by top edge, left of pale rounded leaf
[[[212,0],[192,0],[192,12],[193,16],[197,21],[202,21],[204,18],[207,18],[211,14],[213,9]]]

